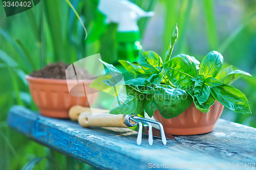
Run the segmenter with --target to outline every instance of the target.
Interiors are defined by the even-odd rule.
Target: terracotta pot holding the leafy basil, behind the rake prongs
[[[158,109],[155,111],[154,117],[163,125],[165,133],[172,135],[196,135],[214,130],[223,108],[224,106],[216,101],[210,107],[208,113],[202,113],[192,103],[189,108],[177,117],[165,119]]]

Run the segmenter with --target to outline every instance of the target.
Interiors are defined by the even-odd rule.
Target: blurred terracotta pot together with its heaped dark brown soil
[[[66,68],[68,66],[63,62],[52,63],[26,77],[33,101],[37,105],[40,114],[49,117],[69,118],[70,107],[74,105],[89,107],[89,101],[93,103],[96,100],[96,95],[91,95],[88,98],[87,96],[72,96],[69,93],[66,81]],[[85,69],[76,69],[76,71],[79,71],[80,77],[84,79],[89,75]],[[93,80],[87,81],[84,85],[89,86],[92,82]],[[74,80],[74,83],[76,83],[76,80]],[[81,91],[81,93],[84,93],[84,91]]]

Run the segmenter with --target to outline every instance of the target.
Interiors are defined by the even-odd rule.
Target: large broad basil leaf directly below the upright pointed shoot
[[[175,57],[163,65],[166,76],[175,86],[190,89],[194,82],[191,80],[197,75],[197,68],[190,57]]]

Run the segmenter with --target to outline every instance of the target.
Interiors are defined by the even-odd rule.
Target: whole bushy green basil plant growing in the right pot
[[[207,113],[216,100],[232,111],[251,113],[246,96],[230,86],[241,76],[251,75],[232,70],[232,66],[223,69],[223,56],[217,51],[209,52],[201,63],[184,54],[171,57],[177,37],[176,25],[163,58],[148,51],[139,53],[138,63],[119,60],[126,69],[123,72],[102,61],[112,75],[102,82],[108,86],[122,85],[129,91],[120,88],[110,113],[143,115],[145,111],[152,117],[159,109],[168,119],[181,114],[192,102],[198,110]],[[124,81],[119,81],[120,75]],[[122,104],[118,105],[120,101]]]

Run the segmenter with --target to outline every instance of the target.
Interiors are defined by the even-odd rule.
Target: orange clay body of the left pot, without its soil
[[[29,82],[30,93],[40,114],[45,116],[69,118],[70,107],[74,105],[89,107],[89,101],[93,103],[97,98],[97,93],[90,95],[89,99],[87,96],[70,95],[66,80],[31,76],[26,76],[26,79]],[[93,80],[87,81],[84,85],[89,86],[92,82]],[[81,92],[84,93],[84,91]]]

